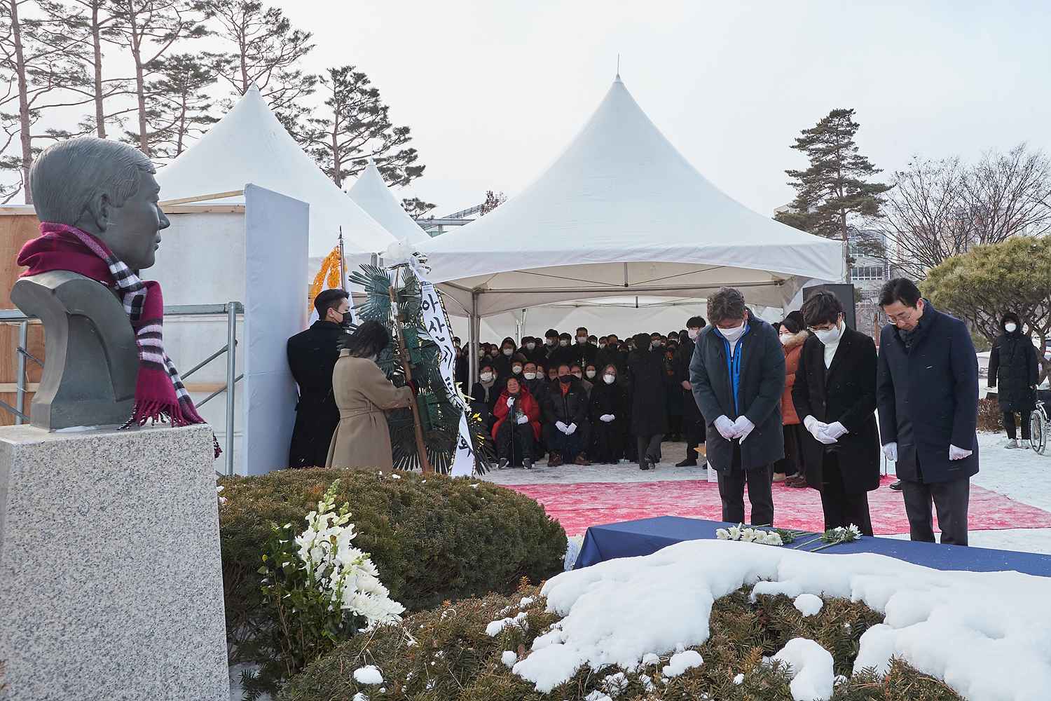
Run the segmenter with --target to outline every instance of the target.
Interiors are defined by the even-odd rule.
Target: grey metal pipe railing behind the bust
[[[244,314],[245,308],[240,302],[227,302],[226,304],[212,305],[173,305],[165,308],[165,316],[226,316],[226,345],[214,353],[201,360],[187,372],[182,373],[185,380],[194,372],[205,367],[223,353],[226,353],[226,383],[201,401],[197,403],[198,408],[203,407],[211,399],[223,392],[226,392],[226,450],[225,450],[225,474],[233,474],[233,422],[234,422],[234,392],[229,391],[235,387],[244,377],[244,373],[234,376],[236,373],[236,348],[238,348],[238,314]],[[25,414],[25,368],[26,362],[35,363],[43,367],[43,363],[35,357],[27,349],[29,339],[29,323],[35,321],[34,316],[26,316],[18,309],[0,309],[0,324],[18,324],[18,380],[15,391],[15,406],[0,399],[0,409],[3,409],[15,416],[15,425],[22,426],[29,420]],[[233,349],[232,352],[228,352]]]

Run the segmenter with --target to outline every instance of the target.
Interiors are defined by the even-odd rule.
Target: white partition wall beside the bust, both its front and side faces
[[[250,201],[248,192],[252,193]],[[290,435],[291,424],[287,421],[294,417],[294,385],[284,362],[285,342],[306,323],[309,211],[303,202],[257,186],[245,186],[245,205],[226,208],[233,211],[181,207],[169,213],[171,226],[162,232],[157,265],[144,271],[144,277],[161,283],[166,307],[226,302],[245,305],[246,314],[239,317],[236,329],[235,376],[244,374],[244,378],[234,389],[232,448],[234,472],[255,474],[287,467],[288,438],[272,432],[285,432],[287,424]],[[182,372],[225,346],[226,338],[227,319],[223,315],[165,319],[165,349]],[[253,359],[255,353],[261,353],[257,360]],[[277,366],[277,353],[284,366]],[[286,373],[284,378],[279,377],[281,370]],[[253,377],[260,383],[254,389]],[[185,383],[195,403],[223,388],[226,356],[215,358]],[[275,404],[267,407],[271,403]],[[256,410],[283,414],[267,414],[252,421],[249,414]],[[226,436],[225,392],[201,407],[200,413],[226,450],[231,441]],[[268,426],[271,420],[276,422]],[[279,450],[281,441],[285,445]],[[217,460],[217,470],[223,471],[224,458]],[[267,467],[255,467],[253,460]]]

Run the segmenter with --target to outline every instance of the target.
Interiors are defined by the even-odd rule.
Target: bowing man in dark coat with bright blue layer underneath
[[[719,473],[722,518],[744,521],[748,484],[751,523],[772,525],[770,480],[784,457],[781,395],[785,355],[778,332],[731,287],[708,297],[710,325],[697,337],[689,384],[707,424],[708,465]]]

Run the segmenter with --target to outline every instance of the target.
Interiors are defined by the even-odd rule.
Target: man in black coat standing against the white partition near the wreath
[[[288,367],[300,386],[295,428],[288,449],[292,468],[324,467],[339,410],[332,395],[332,369],[339,357],[339,335],[350,325],[350,297],[323,290],[314,300],[317,321],[288,339]]]

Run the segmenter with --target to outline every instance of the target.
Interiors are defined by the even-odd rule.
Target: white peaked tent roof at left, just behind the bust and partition
[[[253,183],[308,203],[312,259],[332,250],[339,227],[347,252],[376,253],[395,241],[303,152],[254,85],[201,141],[162,168],[157,180],[164,200],[241,190]]]

